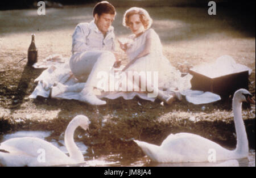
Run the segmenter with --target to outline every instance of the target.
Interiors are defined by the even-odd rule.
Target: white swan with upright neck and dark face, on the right
[[[234,124],[237,133],[235,150],[227,150],[217,143],[191,133],[170,134],[160,146],[134,140],[144,154],[159,163],[214,162],[240,159],[248,156],[248,140],[242,120],[242,101],[255,104],[252,95],[245,89],[237,90],[232,101]],[[213,157],[214,156],[214,157]]]

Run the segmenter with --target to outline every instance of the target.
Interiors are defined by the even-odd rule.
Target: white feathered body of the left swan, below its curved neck
[[[17,162],[23,160],[28,166],[47,166],[70,162],[69,157],[56,146],[35,137],[9,139],[1,143],[0,149],[9,152],[4,154],[6,158],[16,159]]]

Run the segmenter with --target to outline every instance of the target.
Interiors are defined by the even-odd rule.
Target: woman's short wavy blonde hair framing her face
[[[140,7],[131,7],[125,11],[125,15],[123,15],[123,26],[129,27],[129,16],[134,14],[139,14],[141,22],[146,30],[151,27],[153,20],[150,18],[148,12]]]

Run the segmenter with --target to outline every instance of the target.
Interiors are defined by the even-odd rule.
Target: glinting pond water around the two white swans
[[[16,137],[38,137],[41,139],[45,139],[49,137],[52,132],[39,132],[39,131],[19,131],[13,134],[6,134],[3,135],[2,140],[6,141],[10,138]],[[61,151],[65,154],[68,154],[67,149],[64,146],[64,140],[56,140],[52,139],[50,141],[53,145],[58,147]],[[154,163],[147,156],[142,156],[141,158],[134,159],[134,155],[122,155],[122,154],[113,154],[110,152],[108,155],[99,156],[94,154],[92,150],[92,154],[88,154],[87,149],[88,147],[84,145],[82,142],[76,142],[76,145],[82,151],[84,155],[85,162],[81,164],[75,165],[63,165],[63,166],[80,166],[80,167],[119,167],[119,166],[131,166],[131,167],[196,167],[196,166],[240,166],[240,167],[255,167],[255,150],[249,150],[249,156],[245,159],[235,159],[235,160],[226,160],[216,163]],[[89,156],[88,156],[89,155]]]

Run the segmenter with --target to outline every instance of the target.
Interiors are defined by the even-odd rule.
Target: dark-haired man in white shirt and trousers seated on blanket
[[[96,4],[93,9],[94,20],[80,23],[72,36],[72,57],[69,61],[73,75],[79,82],[86,82],[80,92],[80,100],[92,105],[106,104],[94,95],[97,74],[109,71],[115,63],[114,28],[111,26],[116,11],[107,1]]]

